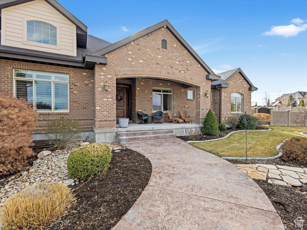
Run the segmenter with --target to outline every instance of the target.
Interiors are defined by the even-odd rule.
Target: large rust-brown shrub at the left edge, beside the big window
[[[0,173],[15,171],[32,156],[32,130],[37,112],[25,99],[0,93]]]

